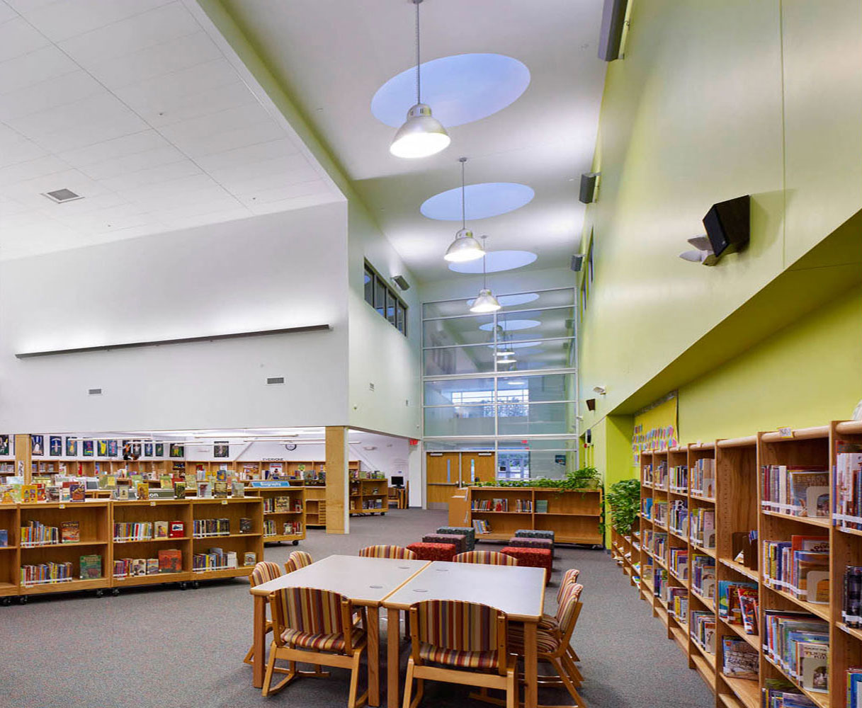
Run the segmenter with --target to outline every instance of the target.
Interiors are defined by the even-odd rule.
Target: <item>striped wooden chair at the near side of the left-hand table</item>
[[[281,691],[297,676],[326,677],[320,666],[350,669],[347,708],[365,705],[368,692],[357,697],[359,661],[365,651],[365,629],[351,620],[350,601],[340,593],[312,587],[287,587],[272,593],[272,647],[262,693]],[[287,676],[272,686],[272,674],[279,669],[277,659],[288,662]],[[297,661],[315,664],[316,670],[298,671]]]

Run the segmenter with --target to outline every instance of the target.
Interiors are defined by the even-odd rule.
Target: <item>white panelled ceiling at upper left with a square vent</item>
[[[178,0],[0,0],[0,258],[343,198],[213,32]]]

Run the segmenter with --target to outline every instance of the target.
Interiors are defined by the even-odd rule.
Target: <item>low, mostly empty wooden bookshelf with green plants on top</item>
[[[480,508],[492,500],[506,500],[508,511]],[[478,541],[508,541],[519,529],[533,529],[553,531],[557,543],[602,545],[602,500],[601,489],[470,487],[465,525],[472,526],[478,519],[490,525],[490,533],[476,535]],[[536,501],[547,503],[547,512],[536,512]],[[523,510],[518,511],[519,507]]]

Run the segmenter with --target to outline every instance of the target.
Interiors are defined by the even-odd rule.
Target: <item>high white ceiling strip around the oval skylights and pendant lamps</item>
[[[452,128],[452,145],[422,160],[390,156],[393,129],[370,103],[414,57],[414,6],[407,0],[223,0],[261,58],[284,84],[353,180],[384,233],[423,281],[454,276],[442,259],[451,221],[419,207],[459,183],[521,182],[534,201],[472,223],[490,250],[538,253],[530,269],[565,266],[578,247],[584,205],[579,176],[596,145],[605,64],[597,59],[602,0],[426,0],[422,60],[501,53],[532,80],[496,115]],[[432,106],[432,109],[434,107]]]

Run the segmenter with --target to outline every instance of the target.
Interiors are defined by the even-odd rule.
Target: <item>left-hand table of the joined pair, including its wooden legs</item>
[[[266,598],[285,587],[314,587],[341,593],[368,614],[368,705],[380,705],[380,604],[422,571],[428,561],[399,561],[391,558],[328,556],[274,581],[253,587],[254,652],[253,686],[264,685],[266,657]],[[390,634],[392,631],[390,630]],[[398,625],[395,626],[398,636]],[[396,661],[397,663],[397,661]]]

